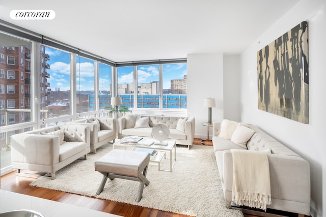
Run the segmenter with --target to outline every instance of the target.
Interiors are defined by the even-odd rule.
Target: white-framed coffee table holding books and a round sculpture
[[[146,140],[148,140],[148,138],[146,138]],[[127,149],[131,149],[131,150],[136,150],[136,148],[149,148],[149,149],[154,149],[155,152],[153,154],[153,156],[151,156],[151,162],[155,162],[158,163],[158,170],[161,171],[168,171],[168,172],[172,172],[172,169],[174,167],[174,164],[177,160],[176,156],[176,142],[175,141],[171,141],[171,140],[166,140],[165,142],[167,143],[167,145],[157,145],[155,144],[155,142],[158,143],[158,141],[154,140],[154,144],[152,145],[142,145],[140,142],[139,143],[127,143],[124,142],[124,139],[121,139],[115,143],[113,143],[113,149],[115,149],[116,147],[123,147],[125,150]],[[174,149],[174,159],[172,159],[172,151]],[[163,158],[166,159],[166,152],[169,153],[170,155],[170,169],[169,170],[162,170],[160,168],[160,162]]]

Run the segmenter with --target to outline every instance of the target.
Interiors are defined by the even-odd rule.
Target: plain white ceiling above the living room
[[[0,19],[123,62],[240,53],[299,1],[0,0]],[[11,19],[18,9],[53,10],[56,17]]]

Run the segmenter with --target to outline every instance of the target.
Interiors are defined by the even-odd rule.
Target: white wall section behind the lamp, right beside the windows
[[[208,121],[205,98],[216,100],[212,121],[223,119],[223,54],[188,54],[187,86],[188,116],[196,117],[195,138],[207,138],[207,128],[200,124]]]

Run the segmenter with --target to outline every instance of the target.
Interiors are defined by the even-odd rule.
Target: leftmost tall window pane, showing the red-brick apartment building
[[[31,130],[11,129],[31,121],[31,42],[0,33],[0,159],[1,171],[11,165],[10,136]]]

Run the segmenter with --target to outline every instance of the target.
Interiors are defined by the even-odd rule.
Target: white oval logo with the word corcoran
[[[13,20],[52,20],[56,17],[53,10],[12,10],[10,17]]]

